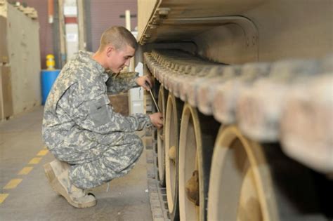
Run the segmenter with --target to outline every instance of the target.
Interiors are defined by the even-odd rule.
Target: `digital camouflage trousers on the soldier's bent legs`
[[[61,147],[50,149],[55,158],[70,163],[74,186],[90,189],[126,175],[143,152],[142,140],[134,133],[112,133],[100,139],[101,143],[90,149],[78,145],[75,152]]]

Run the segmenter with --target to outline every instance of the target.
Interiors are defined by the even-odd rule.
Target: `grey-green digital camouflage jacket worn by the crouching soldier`
[[[133,132],[150,126],[147,114],[122,116],[113,112],[107,92],[117,93],[138,86],[136,73],[110,76],[92,58],[79,51],[67,62],[51,88],[44,107],[42,135],[49,149],[69,142],[110,142],[110,133]],[[87,145],[87,144],[85,144]],[[110,145],[104,144],[104,145]]]

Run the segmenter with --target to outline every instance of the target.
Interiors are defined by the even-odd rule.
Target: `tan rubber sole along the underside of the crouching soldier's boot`
[[[91,206],[95,206],[97,201],[91,201],[89,203],[76,203],[72,199],[70,199],[70,196],[67,194],[67,191],[63,185],[60,184],[58,178],[55,176],[55,173],[53,171],[53,168],[50,163],[46,163],[44,165],[44,170],[46,174],[46,178],[48,178],[48,182],[50,182],[52,189],[55,192],[58,192],[61,196],[63,196],[70,205],[76,207],[76,208],[88,208]]]

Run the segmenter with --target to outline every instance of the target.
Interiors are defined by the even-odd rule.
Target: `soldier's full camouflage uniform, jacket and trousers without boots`
[[[71,164],[70,180],[81,189],[129,173],[143,151],[133,132],[151,126],[146,114],[113,112],[107,97],[107,91],[138,86],[137,74],[110,76],[92,55],[79,51],[63,67],[46,100],[42,126],[48,149]]]

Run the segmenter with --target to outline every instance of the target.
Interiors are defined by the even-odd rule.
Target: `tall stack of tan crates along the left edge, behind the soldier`
[[[0,120],[3,120],[41,103],[37,11],[0,0],[0,30]]]

